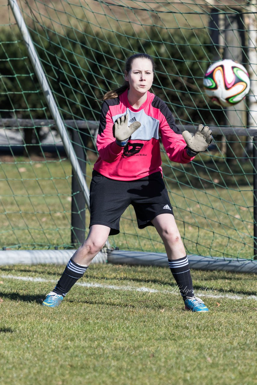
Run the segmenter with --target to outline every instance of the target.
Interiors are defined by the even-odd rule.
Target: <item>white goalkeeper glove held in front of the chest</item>
[[[113,136],[118,146],[125,147],[130,136],[135,132],[141,123],[133,122],[128,126],[128,114],[120,116],[113,125]]]

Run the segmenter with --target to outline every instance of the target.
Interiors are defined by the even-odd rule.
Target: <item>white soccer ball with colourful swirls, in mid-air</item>
[[[224,59],[210,65],[203,86],[213,103],[229,107],[245,98],[250,89],[250,79],[242,64]]]

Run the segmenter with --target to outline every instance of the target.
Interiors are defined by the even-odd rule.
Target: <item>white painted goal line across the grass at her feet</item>
[[[19,281],[29,281],[29,282],[49,282],[56,283],[56,280],[47,280],[45,278],[39,277],[21,277],[17,275],[0,275],[1,278],[9,280],[19,280]],[[111,289],[111,290],[125,290],[125,291],[141,291],[144,293],[166,293],[166,294],[179,294],[177,289],[174,290],[157,290],[147,288],[145,286],[135,287],[135,286],[116,286],[116,285],[106,285],[102,283],[93,283],[93,282],[77,282],[76,285],[87,287],[87,288],[100,288],[100,289]],[[203,291],[199,291],[196,295],[201,297],[208,298],[229,298],[230,300],[255,300],[257,301],[257,296],[255,295],[232,295],[232,294],[212,294],[213,290],[208,290],[203,288]]]

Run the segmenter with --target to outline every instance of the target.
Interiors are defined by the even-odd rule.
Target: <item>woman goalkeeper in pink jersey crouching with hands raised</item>
[[[124,84],[102,100],[97,149],[90,185],[89,234],[68,262],[44,306],[58,306],[81,278],[109,235],[119,233],[119,221],[132,204],[139,229],[155,226],[165,245],[171,273],[185,308],[208,311],[194,295],[188,258],[162,179],[160,141],[173,162],[188,163],[212,141],[200,124],[193,137],[181,132],[165,102],[149,92],[155,63],[146,54],[126,61]]]

